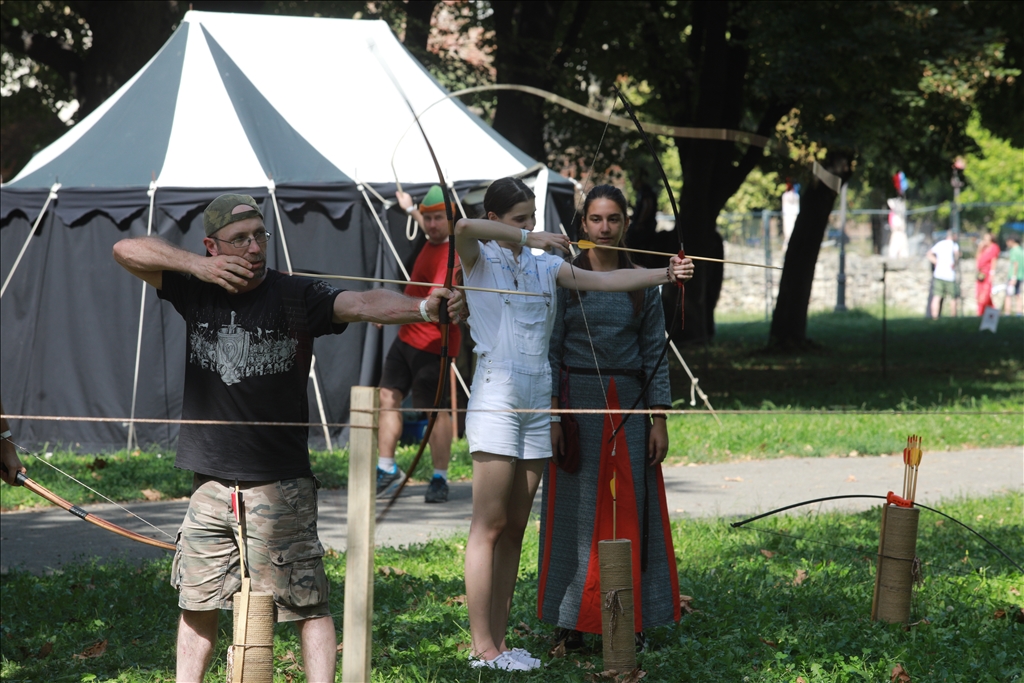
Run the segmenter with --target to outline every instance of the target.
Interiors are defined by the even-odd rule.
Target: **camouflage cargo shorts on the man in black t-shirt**
[[[279,622],[330,614],[324,546],[316,537],[315,479],[240,483],[252,590],[273,593]],[[232,489],[228,480],[194,477],[171,566],[181,609],[231,609],[231,596],[242,590]]]

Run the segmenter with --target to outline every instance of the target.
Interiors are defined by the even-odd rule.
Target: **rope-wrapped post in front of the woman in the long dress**
[[[604,669],[623,674],[637,666],[633,617],[633,544],[629,539],[597,544],[601,567],[601,642]]]

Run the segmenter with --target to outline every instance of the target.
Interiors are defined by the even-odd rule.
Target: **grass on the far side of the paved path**
[[[721,426],[707,413],[672,417],[668,462],[900,453],[911,433],[924,437],[926,450],[1024,444],[1024,318],[1004,318],[995,335],[979,333],[976,317],[896,317],[888,326],[883,376],[882,322],[866,311],[812,315],[808,334],[818,346],[795,354],[765,352],[763,321],[719,324],[712,345],[684,347],[684,357],[712,405],[757,413],[722,415]],[[689,380],[675,358],[671,368],[677,408],[689,408]],[[408,470],[415,453],[415,446],[398,449],[402,468]],[[310,458],[324,485],[346,485],[347,451],[313,452]],[[25,460],[30,476],[73,503],[101,500]],[[58,451],[49,462],[117,501],[146,500],[143,490],[182,498],[191,483],[189,474],[172,467],[171,453],[122,451],[97,458]],[[462,439],[453,449],[450,476],[471,474]],[[414,478],[430,475],[426,454]],[[41,505],[46,503],[29,492],[0,487],[4,509]]]

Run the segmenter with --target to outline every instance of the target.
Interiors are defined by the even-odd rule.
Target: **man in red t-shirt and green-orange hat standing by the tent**
[[[423,227],[427,244],[416,257],[410,280],[418,283],[442,283],[447,268],[449,234],[444,196],[438,185],[433,185],[423,198],[419,208],[406,193],[395,193],[398,205]],[[458,267],[459,257],[456,256]],[[408,285],[408,296],[425,297],[434,288]],[[452,326],[449,337],[449,354],[459,354],[459,328]],[[378,443],[380,461],[377,466],[377,496],[386,496],[406,478],[404,472],[394,462],[394,449],[401,436],[401,407],[406,394],[412,390],[413,408],[433,408],[437,393],[437,377],[441,362],[441,330],[435,323],[413,323],[398,329],[398,338],[391,345],[384,360],[381,377],[381,413]],[[452,417],[440,413],[430,434],[430,458],[434,475],[424,500],[427,503],[447,501],[447,466],[452,459]]]

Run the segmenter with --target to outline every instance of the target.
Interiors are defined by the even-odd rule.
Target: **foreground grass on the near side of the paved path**
[[[1020,555],[1019,495],[961,501],[942,509]],[[878,545],[878,510],[803,514],[736,530],[723,520],[673,523],[680,590],[697,610],[652,630],[639,656],[651,681],[807,683],[888,681],[896,665],[914,681],[1024,680],[1022,577],[995,551],[951,522],[922,512],[914,626],[868,618]],[[772,530],[785,537],[764,533]],[[797,538],[800,537],[800,538]],[[537,533],[526,536],[513,604],[512,646],[544,653],[551,629],[536,616]],[[769,551],[767,557],[762,551]],[[580,681],[601,671],[600,648],[550,661],[540,672],[471,671],[462,580],[464,539],[377,553],[374,678],[398,681]],[[1018,557],[1018,561],[1020,561]],[[344,556],[327,558],[332,611],[341,624]],[[380,569],[384,566],[400,569]],[[78,563],[46,577],[0,577],[0,678],[4,681],[169,681],[176,598],[170,560]],[[806,572],[795,582],[798,572]],[[1001,613],[1002,616],[999,616]],[[227,615],[207,681],[224,677]],[[97,641],[105,652],[75,658]],[[460,649],[463,648],[463,649]],[[279,626],[275,681],[301,681],[294,631]],[[301,657],[299,657],[301,658]],[[339,674],[340,680],[340,674]]]

